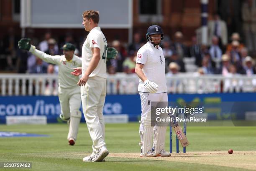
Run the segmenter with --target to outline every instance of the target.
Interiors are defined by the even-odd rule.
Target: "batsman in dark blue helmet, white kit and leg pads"
[[[168,102],[165,79],[165,59],[159,46],[163,32],[158,25],[148,27],[147,43],[137,53],[135,72],[140,78],[141,96],[141,157],[171,156],[164,150],[166,126],[151,126],[151,102]],[[154,151],[152,151],[154,134]]]

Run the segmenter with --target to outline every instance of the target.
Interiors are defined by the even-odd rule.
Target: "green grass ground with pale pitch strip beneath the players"
[[[49,137],[0,138],[0,162],[32,162],[32,169],[70,171],[236,171],[256,169],[256,127],[187,127],[187,154],[140,158],[138,123],[106,124],[110,155],[105,162],[83,162],[92,151],[86,124],[74,146],[67,144],[67,124],[0,125],[0,131],[47,134]],[[174,136],[175,137],[175,136]],[[169,149],[169,129],[166,132]],[[233,154],[228,154],[233,149]],[[175,141],[173,150],[176,150]],[[182,150],[180,146],[180,150]],[[1,170],[1,168],[0,168]],[[8,169],[12,170],[12,169]],[[14,169],[13,169],[14,170]],[[22,169],[15,169],[22,170]]]

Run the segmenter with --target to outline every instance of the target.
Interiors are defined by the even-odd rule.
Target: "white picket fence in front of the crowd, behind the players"
[[[198,76],[192,73],[166,77],[169,93],[256,92],[256,75]],[[108,75],[107,94],[137,94],[136,74]],[[2,96],[57,95],[56,74],[0,74]]]

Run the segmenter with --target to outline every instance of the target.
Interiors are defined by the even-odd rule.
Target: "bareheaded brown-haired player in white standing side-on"
[[[82,78],[77,83],[81,86],[81,99],[84,118],[92,139],[92,154],[83,161],[103,161],[108,156],[105,143],[105,123],[103,106],[106,97],[107,78],[107,40],[98,27],[99,13],[94,10],[84,11],[84,28],[89,32],[82,46]],[[75,68],[74,75],[81,74],[81,68]]]

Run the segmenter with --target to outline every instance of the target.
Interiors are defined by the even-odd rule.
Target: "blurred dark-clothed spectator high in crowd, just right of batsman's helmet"
[[[172,49],[177,52],[179,59],[187,57],[187,47],[183,44],[182,32],[176,32],[174,34],[174,43]]]

